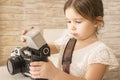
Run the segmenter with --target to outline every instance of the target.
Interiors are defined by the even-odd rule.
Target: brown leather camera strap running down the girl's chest
[[[74,46],[76,43],[76,39],[71,38],[64,50],[63,57],[62,57],[62,67],[63,71],[69,74],[70,64],[72,61],[72,53],[74,50]]]

